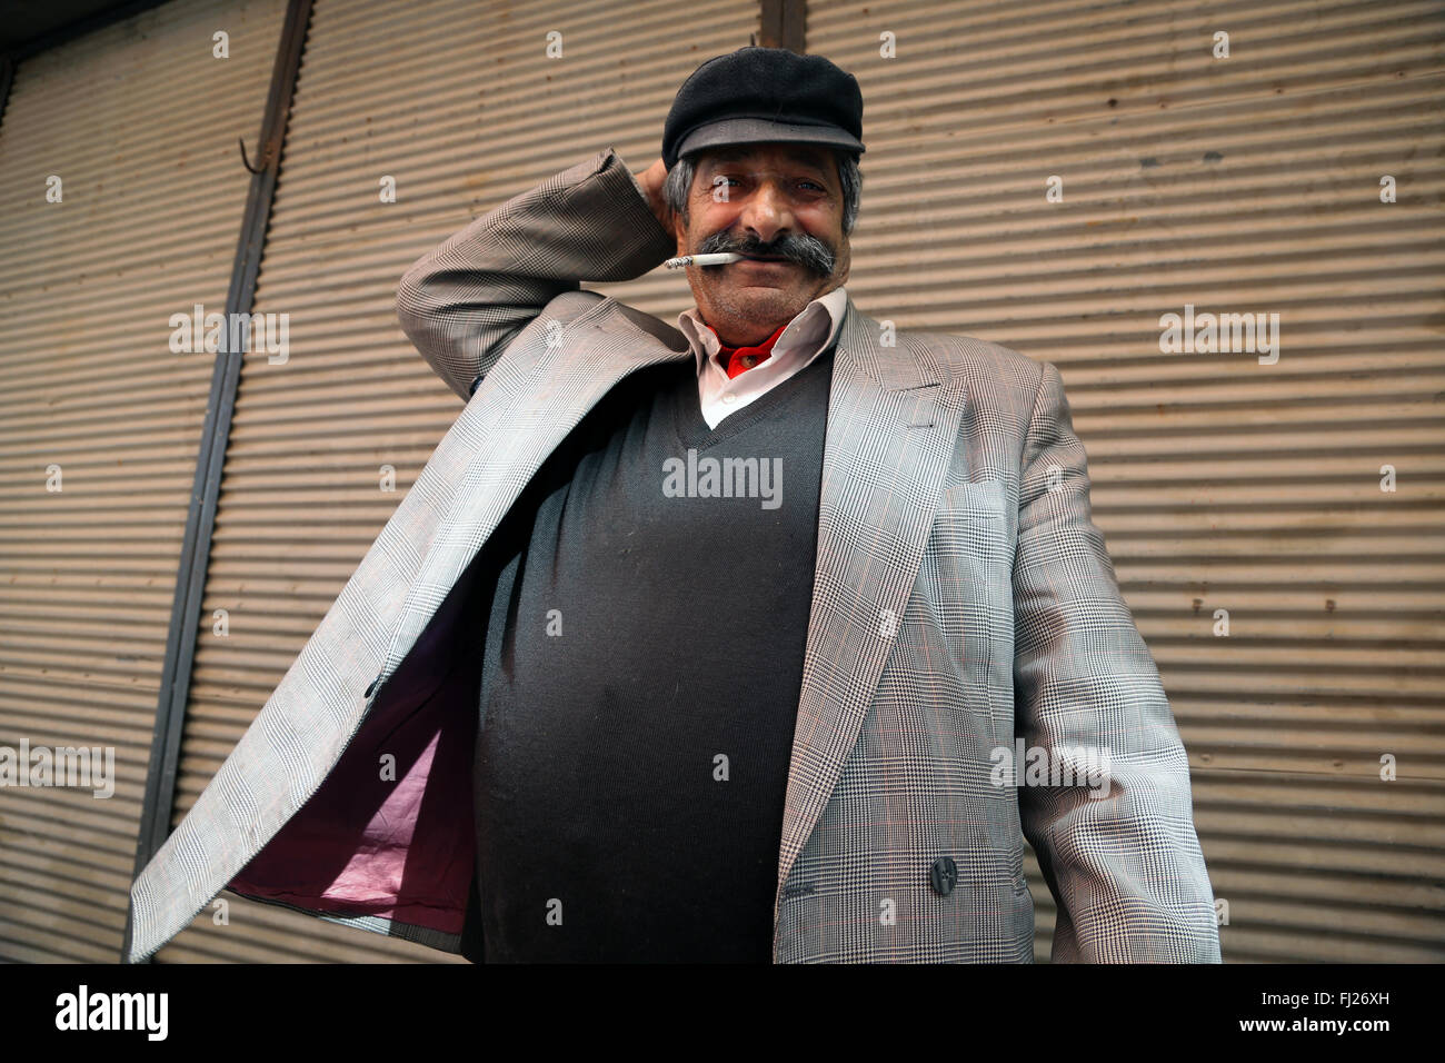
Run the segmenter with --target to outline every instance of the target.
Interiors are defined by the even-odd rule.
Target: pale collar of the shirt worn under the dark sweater
[[[721,341],[702,324],[696,308],[678,314],[678,328],[688,337],[698,363],[698,399],[708,428],[717,428],[728,414],[737,412],[812,364],[832,346],[847,308],[848,292],[841,286],[818,296],[788,323],[766,362],[759,362],[733,379],[728,379],[727,370],[718,364]]]

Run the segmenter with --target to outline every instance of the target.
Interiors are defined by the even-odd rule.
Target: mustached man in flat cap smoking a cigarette
[[[1027,837],[1055,960],[1218,960],[1058,370],[842,288],[861,111],[718,56],[636,179],[604,150],[407,272],[467,406],[137,879],[133,959],[228,887],[478,962],[1027,962]],[[581,291],[711,252],[678,330]]]

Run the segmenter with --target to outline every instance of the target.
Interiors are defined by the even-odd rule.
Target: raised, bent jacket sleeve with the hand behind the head
[[[565,296],[582,281],[630,281],[676,253],[611,148],[491,210],[422,256],[396,315],[422,357],[464,401],[553,299],[562,324],[601,299]]]

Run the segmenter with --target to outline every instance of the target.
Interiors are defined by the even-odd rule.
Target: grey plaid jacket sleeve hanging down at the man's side
[[[1016,733],[1030,751],[1108,751],[1107,788],[1019,787],[1023,834],[1058,902],[1053,962],[1218,963],[1189,762],[1092,522],[1084,444],[1046,362],[1023,450],[1013,596]]]

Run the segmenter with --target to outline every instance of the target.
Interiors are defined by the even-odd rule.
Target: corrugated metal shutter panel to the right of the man
[[[1227,960],[1445,955],[1442,40],[1429,0],[808,16],[864,91],[855,301],[1064,375]],[[1277,312],[1277,364],[1160,354],[1185,304]]]

